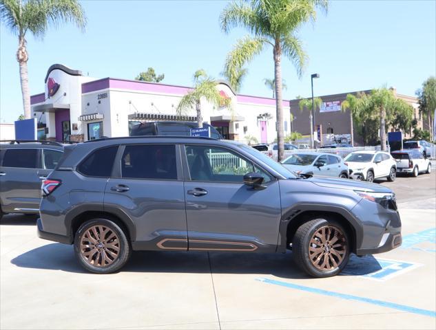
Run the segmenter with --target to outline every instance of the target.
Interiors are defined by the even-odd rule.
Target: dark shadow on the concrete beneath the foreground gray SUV
[[[293,263],[292,252],[286,254],[248,254],[209,252],[214,274],[271,274],[280,278],[310,278]],[[52,243],[25,252],[12,259],[18,267],[86,273],[76,261],[72,245]],[[364,263],[361,265],[361,263]],[[352,257],[346,275],[363,275],[380,270],[373,256]],[[120,272],[200,273],[210,272],[207,252],[137,251]]]

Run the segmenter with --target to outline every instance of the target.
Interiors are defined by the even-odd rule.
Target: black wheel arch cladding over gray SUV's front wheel
[[[282,221],[280,221],[278,252],[286,252],[300,225],[314,217],[334,217],[349,234],[351,252],[355,253],[357,248],[362,245],[362,225],[346,208],[322,204],[298,204],[284,214]]]

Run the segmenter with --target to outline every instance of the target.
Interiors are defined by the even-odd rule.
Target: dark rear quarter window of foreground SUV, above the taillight
[[[79,172],[90,177],[110,177],[118,146],[97,149],[79,165]]]

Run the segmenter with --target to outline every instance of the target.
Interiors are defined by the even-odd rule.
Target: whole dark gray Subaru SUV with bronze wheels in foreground
[[[393,192],[304,178],[239,142],[103,138],[65,147],[43,182],[42,239],[74,244],[79,263],[119,270],[132,250],[281,252],[315,277],[351,253],[402,243]]]

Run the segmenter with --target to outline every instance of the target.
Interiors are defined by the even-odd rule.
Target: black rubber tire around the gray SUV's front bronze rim
[[[340,240],[338,240],[338,242],[340,241],[343,242],[345,248],[344,248],[344,255],[342,261],[340,264],[337,265],[337,267],[331,267],[330,269],[327,270],[320,270],[318,267],[315,267],[315,265],[313,265],[310,256],[311,252],[309,252],[309,248],[313,248],[311,240],[315,237],[315,233],[317,233],[318,230],[322,230],[322,228],[325,228],[326,226],[335,228],[340,232],[342,232],[342,235],[339,235]],[[335,236],[333,236],[333,238],[334,237]],[[325,253],[330,253],[331,251],[331,250],[326,250],[327,248],[317,248],[317,249],[321,249],[322,252],[320,253],[324,255]],[[349,261],[350,243],[349,243],[348,233],[346,232],[346,230],[344,230],[344,228],[342,227],[342,225],[340,225],[340,223],[334,221],[333,219],[328,219],[328,218],[312,219],[300,225],[300,228],[298,228],[297,232],[295,232],[292,242],[292,254],[293,254],[293,259],[295,263],[298,265],[298,267],[300,267],[300,269],[303,272],[306,272],[310,276],[316,278],[335,276],[344,269],[344,267]],[[329,254],[329,256],[330,255],[333,258],[333,254]],[[318,255],[315,255],[315,257],[316,256]],[[325,256],[319,256],[318,258],[315,259],[315,261],[320,260],[320,262],[324,262],[325,261],[324,258]]]

